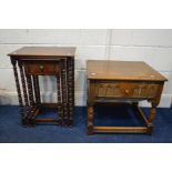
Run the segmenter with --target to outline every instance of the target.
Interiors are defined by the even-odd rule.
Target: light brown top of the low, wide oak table
[[[89,60],[88,79],[166,81],[168,79],[142,61]]]

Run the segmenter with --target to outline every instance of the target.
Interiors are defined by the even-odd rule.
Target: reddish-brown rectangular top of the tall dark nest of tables
[[[74,57],[73,47],[23,47],[8,55],[10,57]]]

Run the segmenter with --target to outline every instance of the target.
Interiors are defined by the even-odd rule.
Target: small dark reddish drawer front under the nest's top
[[[61,71],[61,64],[58,62],[33,62],[24,64],[26,72],[29,74],[57,74]]]

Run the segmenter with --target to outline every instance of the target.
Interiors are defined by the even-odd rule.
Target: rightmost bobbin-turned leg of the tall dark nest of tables
[[[74,73],[73,60],[68,60],[68,125],[73,124],[73,108],[74,108]]]

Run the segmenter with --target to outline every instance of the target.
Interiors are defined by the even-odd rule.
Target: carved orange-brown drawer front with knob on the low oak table
[[[144,82],[99,82],[95,83],[97,98],[155,98],[159,84]]]

